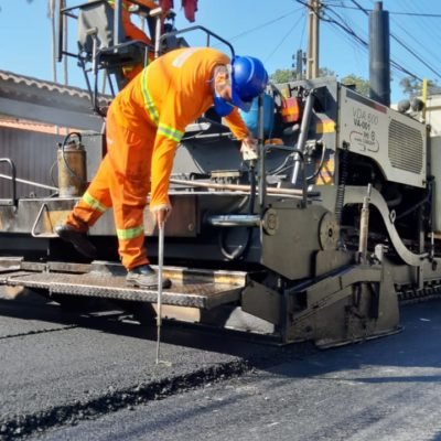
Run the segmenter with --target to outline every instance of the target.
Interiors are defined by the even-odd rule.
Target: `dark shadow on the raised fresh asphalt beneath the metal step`
[[[78,308],[77,312],[72,312],[69,308],[72,304],[62,306],[51,299],[29,291],[17,295],[13,300],[0,299],[0,316],[75,326],[157,342],[154,312],[141,324],[133,320],[131,312],[146,304],[128,303],[129,305],[123,302],[92,299],[89,302],[77,303],[77,306],[83,306],[83,312],[82,308]],[[316,352],[311,343],[281,346],[273,337],[173,320],[163,320],[161,343],[239,356],[256,367],[273,365],[278,359],[282,362],[293,355],[301,357]]]

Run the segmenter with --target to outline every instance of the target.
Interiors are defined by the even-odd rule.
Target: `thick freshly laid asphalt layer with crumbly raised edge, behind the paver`
[[[33,435],[237,376],[290,349],[106,314],[64,313],[35,295],[0,300],[0,439]],[[272,355],[271,355],[272,354]]]

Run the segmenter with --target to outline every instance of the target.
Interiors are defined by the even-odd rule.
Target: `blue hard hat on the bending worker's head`
[[[235,56],[232,61],[232,103],[249,111],[252,99],[268,84],[268,73],[260,60],[252,56]]]

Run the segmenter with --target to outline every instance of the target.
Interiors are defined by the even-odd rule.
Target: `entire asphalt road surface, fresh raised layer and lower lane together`
[[[32,311],[32,313],[30,312]],[[0,302],[0,434],[35,440],[441,440],[441,303],[404,332],[275,347]]]

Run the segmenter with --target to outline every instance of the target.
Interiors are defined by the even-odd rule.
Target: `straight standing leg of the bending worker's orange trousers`
[[[107,115],[109,187],[122,265],[131,269],[148,263],[143,230],[143,211],[150,191],[150,164],[155,130],[142,135],[117,125]]]

